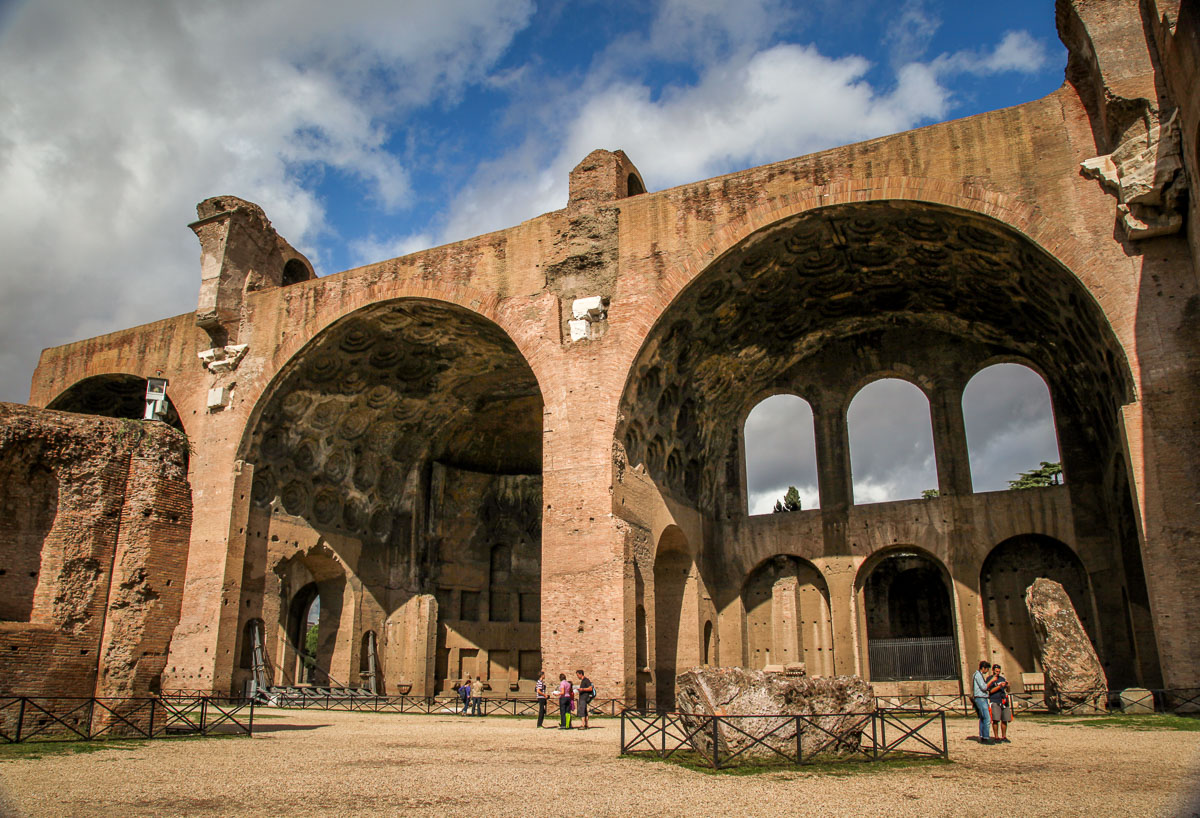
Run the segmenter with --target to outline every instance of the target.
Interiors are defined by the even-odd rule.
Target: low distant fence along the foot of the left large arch
[[[164,699],[187,702],[197,698],[194,693],[163,693]],[[264,692],[259,694],[259,704],[276,708],[298,708],[302,710],[366,710],[372,712],[416,712],[425,715],[461,715],[462,699],[457,696],[371,696],[349,691],[320,691],[290,688],[286,692]],[[623,699],[596,698],[588,703],[589,716],[617,716],[625,708]],[[485,716],[536,716],[535,698],[491,698],[482,697],[480,712]],[[552,697],[546,703],[547,717],[558,714],[558,698]]]

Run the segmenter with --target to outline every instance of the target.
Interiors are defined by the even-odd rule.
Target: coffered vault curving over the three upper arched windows
[[[1039,361],[1064,409],[1102,429],[1096,447],[1117,446],[1133,377],[1073,271],[1086,260],[1034,210],[973,188],[884,180],[776,200],[664,277],[656,321],[624,342],[617,441],[667,495],[720,516],[743,396],[832,341],[919,329]]]

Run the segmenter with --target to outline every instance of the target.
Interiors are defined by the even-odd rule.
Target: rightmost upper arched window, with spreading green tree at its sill
[[[1002,491],[1037,470],[1045,474],[1034,476],[1034,483],[1055,480],[1054,469],[1042,465],[1060,463],[1054,408],[1046,383],[1033,369],[997,363],[977,372],[962,390],[962,420],[974,491]]]

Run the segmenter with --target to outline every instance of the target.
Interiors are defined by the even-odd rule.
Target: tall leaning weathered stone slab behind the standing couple
[[[1066,589],[1039,577],[1025,591],[1025,605],[1045,668],[1045,700],[1051,710],[1108,710],[1109,682]]]

